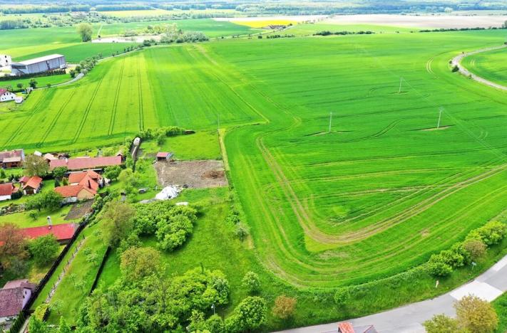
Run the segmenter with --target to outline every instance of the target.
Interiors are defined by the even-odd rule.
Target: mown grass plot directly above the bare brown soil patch
[[[216,131],[198,131],[195,134],[165,138],[159,145],[155,140],[143,141],[144,154],[172,152],[174,159],[220,159],[220,144]]]

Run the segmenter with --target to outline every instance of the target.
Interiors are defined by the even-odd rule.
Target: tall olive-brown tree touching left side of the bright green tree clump
[[[135,210],[126,202],[109,201],[104,207],[103,231],[108,245],[116,247],[133,230]]]

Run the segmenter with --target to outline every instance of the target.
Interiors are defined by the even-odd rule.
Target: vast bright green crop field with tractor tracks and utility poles
[[[466,31],[148,48],[36,91],[0,117],[0,147],[100,147],[148,127],[215,129],[220,116],[265,267],[299,287],[365,282],[506,206],[505,93],[449,68],[501,43],[503,31]]]

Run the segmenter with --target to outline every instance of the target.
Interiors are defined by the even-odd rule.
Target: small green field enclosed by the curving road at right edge
[[[481,78],[507,85],[507,48],[473,54],[461,63]]]

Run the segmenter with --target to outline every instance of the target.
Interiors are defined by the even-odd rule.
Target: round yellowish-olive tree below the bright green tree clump
[[[160,270],[160,253],[153,248],[128,248],[121,254],[121,273],[128,280],[141,280]]]

